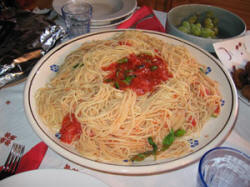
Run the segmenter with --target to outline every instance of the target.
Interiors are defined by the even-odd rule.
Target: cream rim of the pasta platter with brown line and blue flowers
[[[231,132],[238,114],[237,92],[230,74],[216,58],[192,43],[165,33],[143,31],[162,41],[186,46],[200,63],[207,66],[207,75],[211,79],[218,81],[220,85],[219,89],[222,94],[221,113],[217,118],[211,118],[205,124],[199,138],[188,140],[192,153],[176,159],[157,161],[149,159],[127,166],[96,162],[80,156],[72,147],[62,144],[60,140],[55,137],[55,134],[49,131],[39,117],[35,105],[35,92],[37,89],[44,87],[45,84],[55,76],[56,72],[53,70],[60,68],[64,58],[71,51],[80,47],[83,42],[108,39],[124,31],[125,30],[109,30],[82,35],[62,43],[40,59],[29,74],[24,92],[25,112],[32,128],[51,149],[74,163],[95,170],[126,175],[152,174],[179,169],[197,161],[205,152],[221,144]]]

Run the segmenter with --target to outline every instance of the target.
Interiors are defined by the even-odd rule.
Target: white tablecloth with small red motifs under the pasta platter
[[[160,21],[165,25],[166,14],[156,12]],[[26,146],[26,151],[41,140],[29,125],[23,105],[25,82],[0,90],[0,165],[4,164],[10,150],[10,144],[17,142]],[[222,146],[237,148],[250,155],[250,107],[239,101],[239,115],[235,127]],[[10,144],[8,144],[10,143]],[[101,179],[114,187],[128,186],[169,186],[192,187],[196,185],[198,162],[185,168],[149,176],[122,176],[94,171],[78,166],[50,148],[48,149],[40,169],[67,168],[76,169]]]

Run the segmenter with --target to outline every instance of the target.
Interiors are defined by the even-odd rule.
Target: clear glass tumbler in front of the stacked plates
[[[70,1],[61,8],[70,38],[90,31],[92,6],[86,2]]]

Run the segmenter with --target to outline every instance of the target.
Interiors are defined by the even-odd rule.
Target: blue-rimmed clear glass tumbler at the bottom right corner
[[[229,147],[217,147],[199,163],[197,187],[249,187],[250,157]]]

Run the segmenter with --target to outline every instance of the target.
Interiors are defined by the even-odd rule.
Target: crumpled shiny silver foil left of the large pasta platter
[[[24,79],[36,62],[66,37],[66,31],[59,25],[49,24],[44,31],[28,43],[28,52],[13,58],[11,54],[0,57],[0,88]],[[4,47],[0,50],[4,50]],[[15,48],[13,48],[15,50]],[[1,51],[1,52],[2,52]]]

